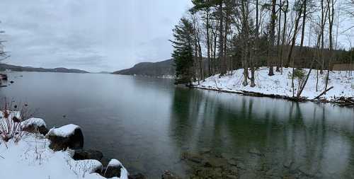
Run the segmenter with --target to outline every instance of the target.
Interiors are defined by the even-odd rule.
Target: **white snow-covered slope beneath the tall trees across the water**
[[[309,69],[304,69],[306,74]],[[222,76],[219,78],[219,74],[215,76],[210,76],[201,81],[200,84],[194,83],[196,87],[200,88],[209,88],[222,91],[230,92],[257,92],[264,94],[276,94],[280,96],[289,96],[292,97],[292,80],[291,80],[291,68],[284,68],[282,74],[275,71],[274,76],[268,76],[268,68],[260,68],[256,71],[256,86],[243,86],[242,82],[244,81],[243,77],[244,69],[237,69],[232,72],[232,75]],[[316,70],[312,70],[312,73],[309,76],[307,85],[302,92],[302,97],[309,99],[315,98],[321,92],[324,91],[326,83],[326,71],[324,74],[319,74],[319,83],[318,91],[316,91]],[[251,75],[251,73],[249,73]],[[353,76],[350,76],[347,71],[330,71],[329,74],[329,84],[328,88],[333,86],[331,91],[328,91],[325,96],[328,100],[333,100],[335,97],[353,97],[354,96],[354,71]],[[250,80],[248,80],[251,83]],[[298,81],[295,80],[295,96],[297,94]]]

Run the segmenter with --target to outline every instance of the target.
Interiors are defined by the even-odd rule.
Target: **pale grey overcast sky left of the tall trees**
[[[115,71],[171,58],[190,0],[1,0],[11,58],[32,67]]]

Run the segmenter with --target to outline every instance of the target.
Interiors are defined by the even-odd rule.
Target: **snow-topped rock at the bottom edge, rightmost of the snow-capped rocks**
[[[122,166],[122,163],[120,163],[120,161],[118,161],[117,159],[111,159],[110,162],[108,163],[108,166],[105,169],[103,169],[101,175],[103,175],[103,177],[105,178],[113,178],[113,177],[118,177],[120,179],[128,178],[127,169],[125,169]]]

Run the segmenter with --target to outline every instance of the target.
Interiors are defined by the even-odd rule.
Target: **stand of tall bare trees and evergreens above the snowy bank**
[[[333,64],[353,64],[353,27],[339,27],[344,19],[353,23],[351,0],[192,2],[173,29],[176,83],[244,69],[244,86],[256,86],[258,67],[268,67],[269,76],[292,67],[292,79],[296,68],[317,69],[328,81]],[[338,42],[340,35],[348,42]]]

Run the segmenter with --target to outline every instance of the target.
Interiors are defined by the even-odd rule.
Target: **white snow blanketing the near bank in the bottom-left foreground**
[[[0,122],[4,120],[2,117],[0,113]],[[40,120],[33,121],[40,122]],[[72,159],[74,151],[67,149],[67,151],[55,152],[48,147],[49,144],[50,141],[43,135],[28,132],[24,133],[19,142],[11,139],[5,143],[0,139],[0,178],[103,179],[98,173],[93,173],[96,169],[102,168],[101,162],[74,161]],[[113,161],[120,164],[117,160]],[[120,179],[127,179],[126,169],[122,168],[121,172]]]

